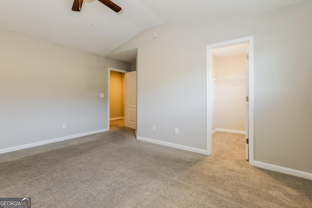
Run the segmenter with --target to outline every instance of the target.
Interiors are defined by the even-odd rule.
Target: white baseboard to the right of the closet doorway
[[[264,169],[273,170],[276,172],[282,172],[282,173],[286,173],[289,175],[294,175],[294,176],[298,176],[301,178],[306,178],[306,179],[312,180],[312,173],[310,173],[310,172],[303,172],[300,170],[294,170],[294,169],[276,166],[276,165],[263,163],[263,162],[259,162],[259,161],[254,161],[254,166],[258,167],[258,168],[264,168]]]

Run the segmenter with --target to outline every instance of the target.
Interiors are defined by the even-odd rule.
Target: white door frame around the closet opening
[[[207,124],[207,151],[212,154],[212,50],[241,43],[249,43],[249,164],[254,165],[254,36],[207,45],[206,63],[206,124]],[[247,86],[246,86],[247,87]],[[246,121],[247,122],[247,121]]]

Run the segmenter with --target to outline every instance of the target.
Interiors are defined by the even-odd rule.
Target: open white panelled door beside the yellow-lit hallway
[[[137,129],[137,71],[125,74],[125,127]]]

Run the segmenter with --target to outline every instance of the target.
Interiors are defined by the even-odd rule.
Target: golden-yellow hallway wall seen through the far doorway
[[[110,80],[110,118],[124,117],[125,74],[111,71]]]

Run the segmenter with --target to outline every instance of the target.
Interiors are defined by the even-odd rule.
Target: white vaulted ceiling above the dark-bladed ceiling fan
[[[73,0],[0,0],[0,27],[105,56],[165,21],[257,15],[304,0],[112,1],[122,11],[115,13],[98,0],[88,0],[81,12],[71,10]]]

